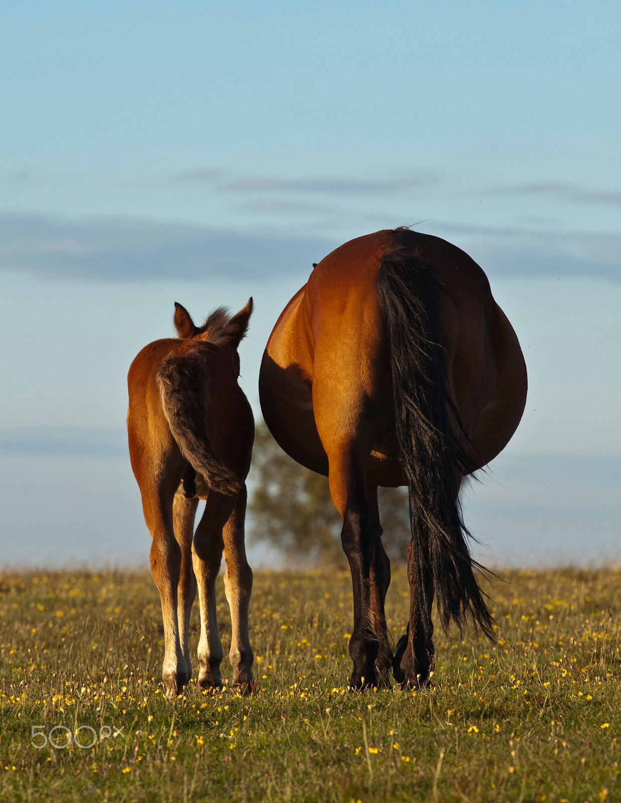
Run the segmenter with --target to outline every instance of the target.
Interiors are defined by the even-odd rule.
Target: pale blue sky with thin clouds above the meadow
[[[612,2],[5,4],[4,560],[146,557],[125,374],[174,300],[254,296],[256,409],[311,263],[403,224],[484,267],[529,366],[471,528],[500,562],[614,557],[620,23]]]

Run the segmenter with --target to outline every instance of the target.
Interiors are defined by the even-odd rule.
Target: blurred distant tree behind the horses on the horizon
[[[285,454],[264,422],[256,428],[250,479],[250,540],[280,549],[293,565],[346,568],[342,520],[328,479]],[[380,488],[379,504],[384,548],[391,559],[405,561],[411,537],[407,491]]]

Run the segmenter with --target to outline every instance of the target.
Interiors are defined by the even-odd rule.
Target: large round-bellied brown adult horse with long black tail
[[[353,689],[422,687],[434,670],[431,605],[494,639],[458,491],[524,412],[520,344],[484,271],[445,240],[407,228],[351,240],[284,308],[259,373],[276,441],[329,478],[353,585]],[[393,656],[378,486],[409,489],[410,616]]]

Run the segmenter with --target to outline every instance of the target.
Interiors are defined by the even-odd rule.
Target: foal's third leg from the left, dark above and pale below
[[[192,563],[201,609],[201,638],[198,642],[198,687],[201,689],[222,685],[220,664],[224,653],[218,635],[215,581],[222,561],[223,526],[231,516],[234,504],[235,497],[209,491],[192,543]]]

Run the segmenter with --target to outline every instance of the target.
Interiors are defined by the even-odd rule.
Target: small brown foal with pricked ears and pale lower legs
[[[164,620],[161,677],[169,696],[181,694],[192,676],[188,631],[197,581],[198,687],[222,685],[215,581],[223,552],[233,687],[243,694],[254,688],[244,519],[255,422],[238,385],[237,352],[251,312],[252,299],[235,316],[221,307],[197,327],[175,303],[178,339],[145,346],[129,369],[129,456],[153,538],[151,573]],[[198,499],[206,505],[194,533]]]

